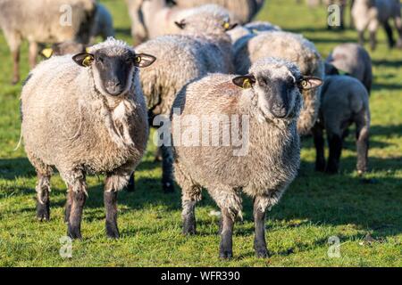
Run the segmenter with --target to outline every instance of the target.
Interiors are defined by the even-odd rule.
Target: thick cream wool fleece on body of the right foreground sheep
[[[262,209],[281,199],[297,175],[300,145],[297,116],[291,119],[264,118],[257,95],[233,85],[233,77],[214,74],[183,89],[173,104],[173,108],[179,108],[181,113],[180,116],[172,113],[172,133],[176,122],[186,115],[201,118],[223,114],[249,118],[248,151],[244,156],[233,156],[237,149],[233,145],[187,147],[173,142],[175,175],[183,188],[183,195],[200,199],[201,186],[205,187],[220,208],[228,208],[232,216],[236,216],[241,210],[237,190],[251,197],[265,197],[262,199],[264,205],[260,205]],[[299,96],[295,112],[301,105],[302,97]],[[221,140],[225,127],[231,129],[230,126],[221,126]],[[180,132],[183,134],[185,130],[182,128]],[[237,135],[241,137],[241,134]]]

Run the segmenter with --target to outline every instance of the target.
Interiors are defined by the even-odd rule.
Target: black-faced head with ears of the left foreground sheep
[[[78,53],[72,59],[81,67],[92,69],[96,89],[112,96],[127,94],[137,68],[147,67],[155,61],[154,56],[136,54],[129,45],[114,39],[94,45],[88,53]]]

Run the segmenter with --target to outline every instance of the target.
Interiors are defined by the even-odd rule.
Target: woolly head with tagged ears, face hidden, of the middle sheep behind
[[[229,12],[216,4],[189,9],[186,17],[175,24],[185,33],[218,35],[237,26],[237,23],[230,22]]]

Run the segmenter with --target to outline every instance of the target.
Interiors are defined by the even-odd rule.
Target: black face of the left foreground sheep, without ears
[[[94,54],[95,67],[107,94],[118,96],[130,89],[135,62],[135,54],[127,52],[118,56],[105,53]]]

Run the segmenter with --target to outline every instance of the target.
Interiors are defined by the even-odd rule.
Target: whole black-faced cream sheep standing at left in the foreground
[[[75,62],[74,62],[75,61]],[[21,134],[38,174],[37,217],[50,217],[53,167],[68,185],[68,235],[81,239],[86,175],[105,174],[106,234],[118,238],[117,192],[147,146],[147,106],[138,68],[155,57],[109,38],[88,53],[54,56],[29,73],[21,93]]]

